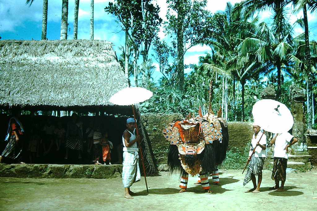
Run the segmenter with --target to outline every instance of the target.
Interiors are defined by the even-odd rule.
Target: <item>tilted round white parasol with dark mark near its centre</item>
[[[271,133],[287,132],[294,124],[293,116],[286,105],[271,99],[256,102],[252,115],[261,129]]]

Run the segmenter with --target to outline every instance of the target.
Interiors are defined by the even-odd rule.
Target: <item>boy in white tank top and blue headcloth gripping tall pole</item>
[[[134,134],[135,121],[134,118],[126,120],[126,130],[123,132],[123,167],[122,167],[122,183],[125,189],[124,197],[132,199],[131,195],[135,194],[130,190],[133,183],[140,181],[141,174],[139,168],[139,149],[137,141],[140,140],[139,135]]]

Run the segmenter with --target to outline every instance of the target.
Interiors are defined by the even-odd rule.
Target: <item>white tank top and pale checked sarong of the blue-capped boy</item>
[[[128,130],[126,130],[128,131]],[[135,139],[134,131],[131,133],[129,142]],[[139,149],[135,142],[131,147],[126,147],[124,137],[123,142],[123,167],[122,167],[122,183],[125,188],[129,188],[133,183],[139,182],[141,179],[140,167],[139,167]]]

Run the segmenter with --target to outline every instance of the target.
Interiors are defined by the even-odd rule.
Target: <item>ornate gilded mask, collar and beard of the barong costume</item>
[[[183,119],[170,123],[170,127],[163,130],[163,134],[171,145],[176,145],[179,160],[183,169],[195,175],[202,171],[200,158],[197,156],[205,150],[205,145],[213,141],[222,143],[223,134],[220,122],[227,127],[223,118],[210,118],[209,121],[203,117]],[[197,158],[196,158],[197,157]]]

